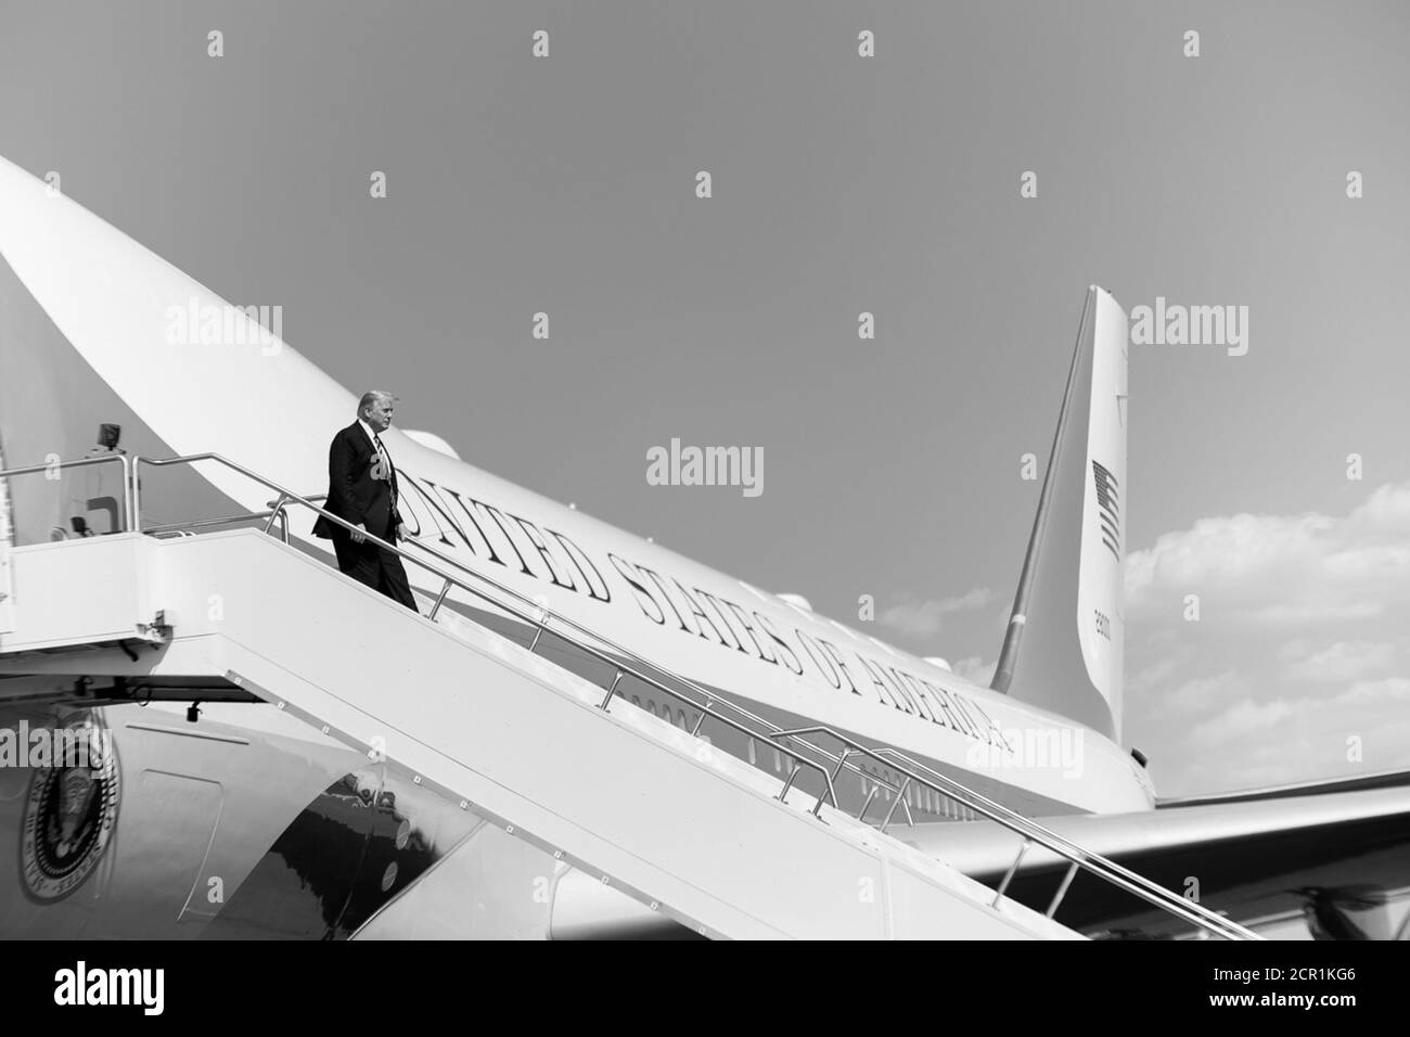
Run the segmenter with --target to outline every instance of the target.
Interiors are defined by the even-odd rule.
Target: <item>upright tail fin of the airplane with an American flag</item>
[[[1127,315],[1093,285],[991,687],[1120,738]]]

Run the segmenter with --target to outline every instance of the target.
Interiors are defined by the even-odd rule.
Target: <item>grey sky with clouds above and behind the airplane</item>
[[[1407,52],[1400,3],[0,0],[0,154],[478,467],[977,679],[1086,286],[1246,306],[1131,347],[1124,741],[1180,796],[1410,766]],[[671,439],[763,492],[651,485]]]

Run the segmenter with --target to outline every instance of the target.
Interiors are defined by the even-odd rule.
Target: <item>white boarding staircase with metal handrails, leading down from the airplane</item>
[[[254,516],[266,519],[264,529],[141,532],[141,466],[202,460],[279,494]],[[833,808],[833,779],[867,756],[970,803],[1018,831],[1025,848],[1066,856],[1063,890],[1081,868],[1215,935],[1252,937],[894,751],[881,756],[826,728],[760,729],[763,721],[697,689],[705,698],[691,703],[702,718],[787,752],[794,769],[780,782],[615,694],[625,676],[680,694],[651,676],[664,673],[658,667],[453,559],[384,545],[444,580],[431,615],[413,614],[266,535],[289,507],[319,509],[233,461],[200,454],[131,468],[123,459],[123,467],[133,532],[10,550],[14,600],[0,629],[0,674],[223,681],[706,937],[1081,938],[1050,917],[1060,893],[1048,914],[1031,910],[1003,885],[995,892],[888,835],[904,789],[880,828]],[[440,618],[455,622],[437,622],[451,588],[482,594],[485,586],[498,608],[540,632],[553,624],[556,636],[609,663],[611,684],[536,655],[537,636],[525,648],[454,612]]]

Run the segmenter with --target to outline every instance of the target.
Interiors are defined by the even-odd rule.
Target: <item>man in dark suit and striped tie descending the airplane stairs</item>
[[[391,392],[364,392],[357,420],[340,429],[329,446],[329,501],[323,507],[357,530],[348,532],[320,515],[313,535],[333,539],[338,570],[419,612],[402,560],[367,539],[371,533],[396,543],[406,536],[396,511],[396,468],[381,439],[392,425],[395,402]]]

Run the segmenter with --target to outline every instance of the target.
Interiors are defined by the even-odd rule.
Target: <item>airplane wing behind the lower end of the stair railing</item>
[[[1041,821],[1269,938],[1410,938],[1410,772]],[[1014,832],[990,821],[922,824],[901,837],[995,887],[1019,849]],[[1008,892],[1046,910],[1066,868],[1031,847]],[[1189,935],[1163,911],[1086,873],[1056,918],[1089,935]]]

